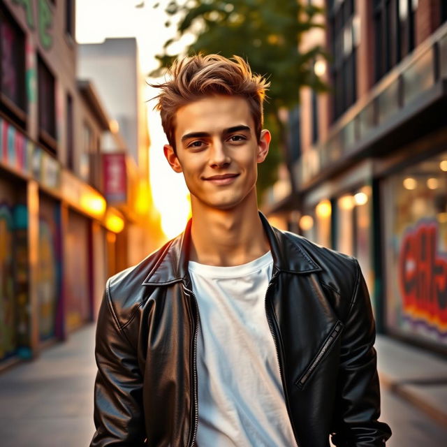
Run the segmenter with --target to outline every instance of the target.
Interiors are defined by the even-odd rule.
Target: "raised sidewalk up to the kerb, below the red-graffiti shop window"
[[[447,360],[384,335],[375,346],[381,386],[447,427]]]

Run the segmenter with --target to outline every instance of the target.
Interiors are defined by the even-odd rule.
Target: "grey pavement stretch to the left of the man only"
[[[94,324],[0,374],[1,446],[88,446],[95,375]]]

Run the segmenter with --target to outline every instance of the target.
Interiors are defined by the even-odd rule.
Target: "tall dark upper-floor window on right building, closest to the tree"
[[[357,99],[356,53],[359,41],[358,20],[353,0],[328,1],[333,64],[332,119],[339,118]]]

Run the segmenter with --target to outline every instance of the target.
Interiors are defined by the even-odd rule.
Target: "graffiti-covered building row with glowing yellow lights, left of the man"
[[[74,20],[74,1],[0,1],[0,368],[92,321],[117,259],[129,261],[118,237],[137,208],[132,173],[117,182],[126,161],[103,141],[126,145],[76,78]]]

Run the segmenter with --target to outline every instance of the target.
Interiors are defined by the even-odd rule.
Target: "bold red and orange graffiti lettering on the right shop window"
[[[420,221],[402,238],[399,279],[402,314],[447,338],[447,252],[439,251],[438,222]]]

